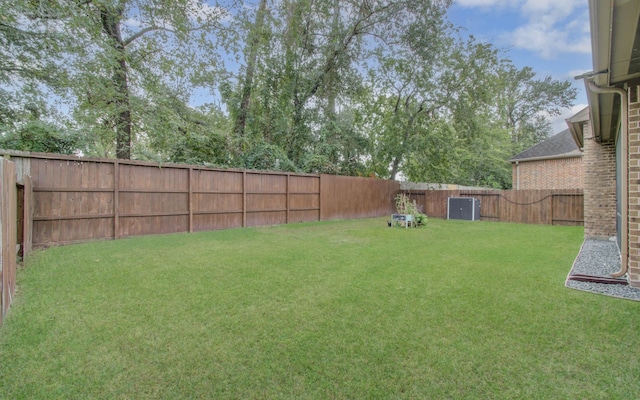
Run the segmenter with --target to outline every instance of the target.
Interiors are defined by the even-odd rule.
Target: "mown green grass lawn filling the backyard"
[[[1,398],[635,399],[640,303],[564,287],[582,228],[322,222],[34,253]]]

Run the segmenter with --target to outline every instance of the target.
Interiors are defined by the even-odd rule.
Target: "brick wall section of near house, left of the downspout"
[[[616,148],[597,143],[591,123],[584,127],[584,235],[607,238],[616,235]]]

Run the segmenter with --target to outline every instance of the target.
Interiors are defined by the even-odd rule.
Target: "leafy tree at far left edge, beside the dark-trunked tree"
[[[0,146],[39,151],[73,143],[63,133],[65,118],[48,104],[61,94],[65,74],[58,49],[68,43],[55,24],[34,22],[46,14],[49,3],[0,2]],[[33,131],[33,132],[31,132]],[[4,136],[4,137],[2,137]],[[65,152],[68,149],[63,146]]]

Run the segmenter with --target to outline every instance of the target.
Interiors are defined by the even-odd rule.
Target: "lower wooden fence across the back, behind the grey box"
[[[523,224],[583,225],[582,189],[406,191],[429,217],[447,218],[449,197],[480,199],[480,219]]]

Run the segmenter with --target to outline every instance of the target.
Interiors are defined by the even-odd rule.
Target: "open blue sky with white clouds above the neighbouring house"
[[[582,80],[591,71],[587,0],[454,0],[449,20],[467,34],[503,49],[517,67],[529,66],[540,78],[570,80],[578,89],[571,109],[552,118],[553,131],[587,105]]]

